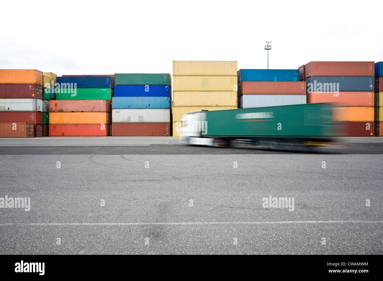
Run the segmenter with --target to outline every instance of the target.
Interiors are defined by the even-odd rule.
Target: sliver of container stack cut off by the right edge
[[[383,62],[375,63],[375,136],[383,136]]]

